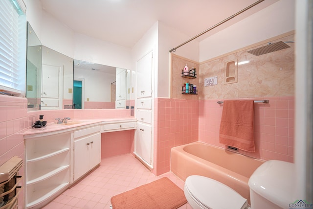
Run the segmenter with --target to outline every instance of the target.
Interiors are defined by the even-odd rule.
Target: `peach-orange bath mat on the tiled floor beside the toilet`
[[[112,209],[177,209],[185,203],[183,190],[167,177],[111,198]]]

